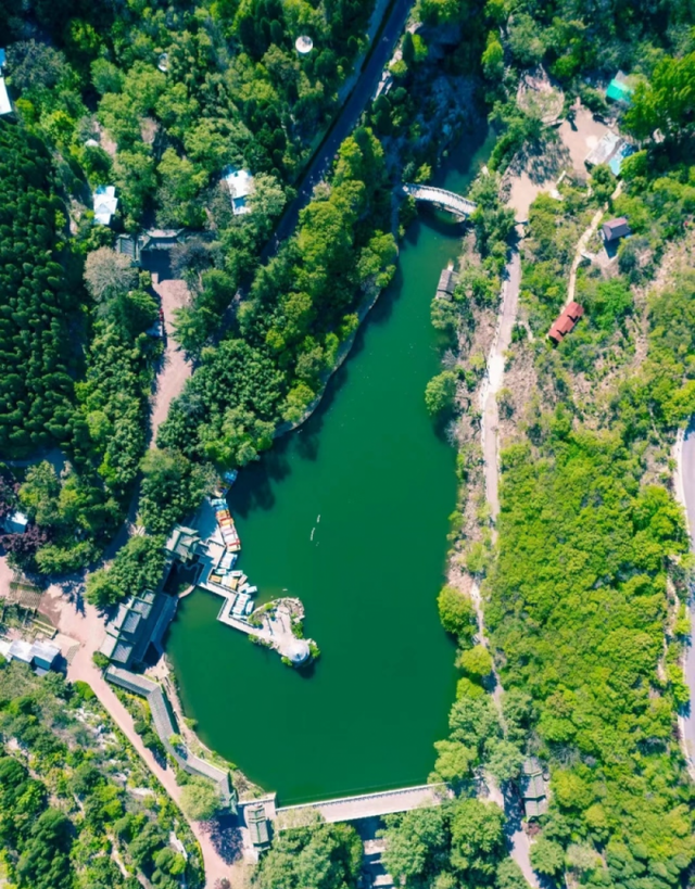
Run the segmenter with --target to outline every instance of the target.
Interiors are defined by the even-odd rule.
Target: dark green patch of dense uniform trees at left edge
[[[4,122],[0,178],[0,453],[23,457],[70,435],[76,300],[50,156]]]

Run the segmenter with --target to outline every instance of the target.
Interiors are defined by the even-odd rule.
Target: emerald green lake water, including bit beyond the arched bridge
[[[469,163],[457,152],[438,185],[462,189]],[[217,622],[222,600],[203,590],[169,632],[201,738],[281,804],[422,783],[446,734],[456,676],[437,594],[454,452],[424,391],[440,370],[430,302],[459,239],[428,213],[410,227],[318,411],[231,491],[239,567],[261,601],[302,599],[320,660],[304,675],[285,666]]]

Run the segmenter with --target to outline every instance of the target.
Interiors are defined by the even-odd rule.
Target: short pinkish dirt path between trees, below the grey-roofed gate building
[[[160,276],[152,275],[152,287],[162,301],[164,313],[164,328],[166,330],[166,346],[164,361],[156,380],[156,392],[152,402],[150,418],[151,442],[156,441],[156,432],[166,420],[169,406],[177,395],[180,395],[186,381],[191,376],[192,365],[174,339],[174,313],[186,305],[189,296],[186,282],[181,280],[160,280]]]

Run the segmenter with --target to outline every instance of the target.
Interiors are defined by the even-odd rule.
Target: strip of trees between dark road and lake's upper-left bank
[[[378,140],[356,130],[296,234],[258,269],[230,336],[203,352],[160,429],[160,446],[243,466],[270,446],[280,419],[302,417],[354,331],[361,300],[393,275],[386,183]]]

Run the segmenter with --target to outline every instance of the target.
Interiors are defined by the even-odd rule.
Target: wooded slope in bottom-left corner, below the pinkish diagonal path
[[[17,661],[0,663],[0,879],[17,889],[204,882],[186,821],[89,686]]]

